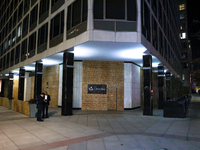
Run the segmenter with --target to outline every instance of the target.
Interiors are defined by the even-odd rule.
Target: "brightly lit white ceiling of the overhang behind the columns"
[[[99,61],[128,61],[142,66],[142,56],[149,52],[140,43],[125,42],[86,42],[74,47],[74,60],[99,60]],[[160,61],[152,57],[153,67]],[[43,67],[48,67],[63,62],[63,52],[43,58]],[[35,63],[24,66],[26,71],[34,71]],[[17,73],[19,69],[15,69]]]

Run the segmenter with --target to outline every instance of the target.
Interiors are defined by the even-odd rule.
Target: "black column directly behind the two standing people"
[[[42,92],[42,69],[43,64],[40,61],[35,63],[35,85],[34,85],[34,98],[36,99]]]

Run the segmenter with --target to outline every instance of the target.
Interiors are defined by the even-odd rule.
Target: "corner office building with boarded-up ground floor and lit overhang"
[[[141,106],[151,114],[152,95],[154,104],[164,101],[164,70],[182,75],[178,6],[177,0],[4,0],[2,96],[10,95],[14,75],[12,98],[48,91],[63,114],[72,107]]]

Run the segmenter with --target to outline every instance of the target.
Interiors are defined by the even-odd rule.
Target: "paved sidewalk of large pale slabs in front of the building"
[[[153,116],[143,116],[142,109],[61,116],[60,108],[50,108],[50,118],[37,122],[0,107],[0,150],[197,150],[198,102],[200,96],[193,96],[185,119],[163,118],[158,109]]]

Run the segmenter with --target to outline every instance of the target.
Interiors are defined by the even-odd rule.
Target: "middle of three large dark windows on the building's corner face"
[[[125,0],[106,0],[106,19],[125,19]]]

